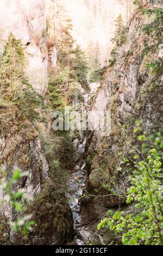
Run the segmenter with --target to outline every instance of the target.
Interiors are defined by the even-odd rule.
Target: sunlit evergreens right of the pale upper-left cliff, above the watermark
[[[82,87],[87,86],[87,60],[79,45],[73,47],[71,19],[65,20],[60,31],[57,62],[60,72],[53,70],[48,84],[48,96],[54,109],[63,109],[71,101],[67,99],[67,95],[72,84],[78,82]]]

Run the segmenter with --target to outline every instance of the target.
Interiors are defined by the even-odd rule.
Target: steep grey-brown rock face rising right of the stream
[[[136,143],[135,121],[141,119],[143,130],[149,133],[154,127],[162,127],[162,106],[157,103],[162,101],[162,94],[153,93],[154,99],[150,93],[152,75],[145,65],[162,56],[162,45],[148,58],[142,56],[143,48],[153,43],[152,36],[141,32],[143,24],[148,22],[146,16],[134,14],[128,24],[127,41],[117,48],[116,61],[106,69],[101,88],[91,103],[91,109],[110,109],[111,135],[102,137],[101,132],[95,131],[87,139],[87,192],[92,196],[82,199],[84,224],[95,221],[108,208],[125,205],[125,198],[107,195],[122,194],[128,188],[125,174],[118,172],[122,157],[119,153],[127,155],[130,141]],[[158,74],[160,83],[162,78],[162,74]],[[97,197],[99,193],[100,198]]]

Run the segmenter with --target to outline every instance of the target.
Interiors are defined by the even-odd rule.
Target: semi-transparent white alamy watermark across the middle
[[[101,136],[111,133],[110,111],[71,111],[69,107],[64,112],[53,113],[54,131],[101,131]]]

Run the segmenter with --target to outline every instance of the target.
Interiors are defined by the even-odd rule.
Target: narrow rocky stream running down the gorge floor
[[[82,94],[84,97],[84,102],[82,106],[80,106],[80,110],[87,111],[90,107],[90,101],[93,96],[96,95],[97,89],[99,88],[100,83],[92,83],[89,85],[90,91],[85,93],[83,89]],[[74,97],[73,106],[78,106],[78,97]],[[77,107],[78,108],[78,107]],[[87,241],[89,241],[89,237],[91,231],[89,227],[82,226],[82,216],[80,214],[80,197],[83,194],[83,190],[85,188],[87,182],[87,171],[86,171],[86,163],[84,160],[85,154],[85,145],[87,139],[87,132],[80,131],[80,139],[76,138],[73,141],[73,146],[77,152],[77,160],[76,160],[76,167],[74,168],[74,172],[71,176],[70,181],[67,185],[67,198],[68,203],[70,205],[72,215],[73,215],[73,222],[74,222],[74,239],[72,241],[75,245],[87,245]]]

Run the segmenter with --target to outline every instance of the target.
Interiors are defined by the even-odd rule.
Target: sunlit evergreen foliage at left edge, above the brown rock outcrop
[[[41,96],[37,95],[26,76],[26,59],[21,40],[10,33],[4,52],[0,56],[0,106],[15,106],[14,113],[21,110],[22,117],[33,120],[38,117],[35,108],[40,106]]]

